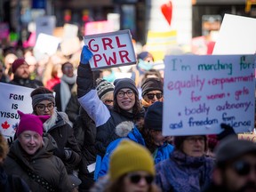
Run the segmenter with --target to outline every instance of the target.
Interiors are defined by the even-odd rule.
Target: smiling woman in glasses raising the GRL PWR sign
[[[131,78],[116,79],[114,82],[114,105],[108,108],[99,99],[93,84],[92,69],[86,54],[91,52],[84,46],[77,70],[77,97],[88,115],[96,124],[96,145],[98,155],[104,156],[108,144],[119,138],[116,125],[124,121],[136,122],[141,116],[139,93]]]

